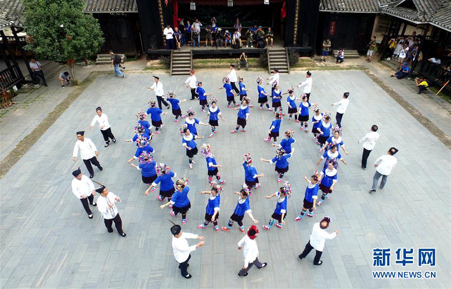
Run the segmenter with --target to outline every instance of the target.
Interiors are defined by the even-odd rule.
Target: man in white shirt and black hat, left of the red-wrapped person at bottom
[[[191,274],[188,273],[187,268],[188,261],[191,258],[190,252],[194,251],[198,247],[203,246],[203,244],[205,243],[205,238],[191,233],[184,233],[181,231],[180,225],[176,224],[171,227],[171,233],[172,249],[174,250],[175,260],[179,263],[178,268],[180,269],[181,275],[184,278],[189,279],[191,278]],[[186,239],[199,239],[201,241],[196,245],[189,246]]]

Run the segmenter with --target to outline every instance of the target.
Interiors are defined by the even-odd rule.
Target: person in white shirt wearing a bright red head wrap
[[[259,229],[252,225],[248,229],[248,233],[238,242],[238,249],[241,250],[243,248],[243,255],[245,258],[245,263],[243,268],[241,268],[238,276],[245,277],[249,273],[249,269],[256,265],[257,268],[261,269],[268,266],[268,263],[261,263],[259,261],[259,248],[257,247],[257,242],[255,238],[259,234]]]

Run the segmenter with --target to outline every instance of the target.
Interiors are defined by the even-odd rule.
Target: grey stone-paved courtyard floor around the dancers
[[[275,200],[264,196],[278,188],[274,166],[258,161],[275,153],[274,148],[263,142],[273,114],[252,108],[248,132],[231,135],[229,130],[235,126],[236,112],[225,107],[224,92],[217,90],[225,72],[196,73],[205,90],[219,99],[225,118],[212,139],[199,140],[197,144],[210,143],[217,162],[223,165],[220,172],[227,182],[221,196],[220,225],[233,212],[236,203],[233,191],[244,181],[242,156],[251,152],[259,173],[265,173],[260,179],[262,186],[251,201],[261,228],[275,207]],[[266,75],[263,72],[240,74],[256,103],[255,79]],[[236,243],[243,234],[237,226],[231,232],[196,228],[202,222],[207,202],[205,196],[198,194],[207,189],[206,165],[198,154],[194,169],[188,169],[178,135],[180,122],[172,123],[169,111],[163,117],[163,133],[152,142],[156,150],[154,158],[190,180],[192,207],[183,230],[205,236],[205,246],[192,252],[189,272],[193,277],[185,280],[180,276],[170,244],[170,223],[166,220],[172,217],[167,209],[159,209],[156,193],[144,195],[146,187],[139,172],[126,163],[135,146],[122,142],[133,135],[135,114],[147,108],[146,103],[153,95],[146,89],[151,84],[151,74],[129,74],[125,80],[104,75],[85,90],[1,180],[1,287],[449,287],[449,150],[363,72],[316,71],[313,78],[311,100],[320,102],[323,110],[338,101],[344,91],[351,93],[342,122],[343,139],[349,151],[349,156],[344,156],[348,165],[340,165],[335,191],[315,216],[293,221],[302,207],[305,190],[302,176],[320,169],[315,164],[320,153],[311,134],[301,132],[298,124],[285,117],[281,131],[295,129],[297,140],[295,155],[289,160],[290,171],[285,177],[293,185],[293,197],[288,201],[284,228],[273,227],[269,232],[261,229],[257,238],[260,259],[269,263],[267,268],[253,268],[248,277],[239,278],[237,272],[243,256]],[[287,89],[303,79],[304,73],[282,75],[281,88]],[[181,85],[185,77],[169,78],[160,74],[160,80],[166,91],[175,90],[179,99],[189,99],[189,90]],[[199,112],[197,104],[188,100],[182,108],[192,105],[200,120],[205,114]],[[105,168],[102,172],[95,169],[94,179],[122,198],[118,207],[128,234],[125,239],[117,233],[108,234],[97,211],[93,220],[88,219],[71,192],[71,171],[80,165],[83,173],[87,173],[80,161],[74,164],[71,159],[75,132],[89,127],[98,105],[108,115],[119,141],[103,148],[98,128],[87,133],[98,146],[98,159]],[[400,150],[396,155],[398,165],[386,187],[375,194],[368,193],[374,169],[360,168],[362,148],[357,143],[372,124],[379,126],[381,137],[370,155],[370,163],[390,146]],[[200,135],[207,136],[208,131],[208,127],[199,127]],[[436,168],[445,173],[438,173]],[[314,266],[312,254],[303,261],[297,260],[312,225],[325,215],[332,218],[330,231],[340,232],[334,240],[326,242],[323,265]],[[180,218],[176,221],[180,223]],[[244,222],[246,226],[251,225],[247,217]],[[431,270],[436,271],[436,279],[373,279],[372,248],[376,247],[392,249],[391,266],[384,270]],[[394,251],[403,247],[436,248],[437,265],[419,268],[395,264]]]

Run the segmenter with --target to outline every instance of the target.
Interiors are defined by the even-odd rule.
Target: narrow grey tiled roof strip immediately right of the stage
[[[377,0],[321,0],[320,11],[379,12]]]

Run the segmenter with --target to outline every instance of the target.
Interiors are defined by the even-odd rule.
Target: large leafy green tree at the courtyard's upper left
[[[31,37],[25,49],[37,57],[67,63],[75,79],[74,63],[100,51],[100,25],[85,14],[83,0],[25,0],[24,26]]]

